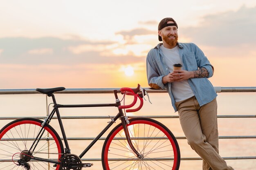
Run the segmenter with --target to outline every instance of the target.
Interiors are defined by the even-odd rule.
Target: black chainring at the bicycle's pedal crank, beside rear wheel
[[[70,168],[70,163],[82,163],[81,159],[74,154],[65,154],[61,158],[60,170],[81,170],[82,168]]]

